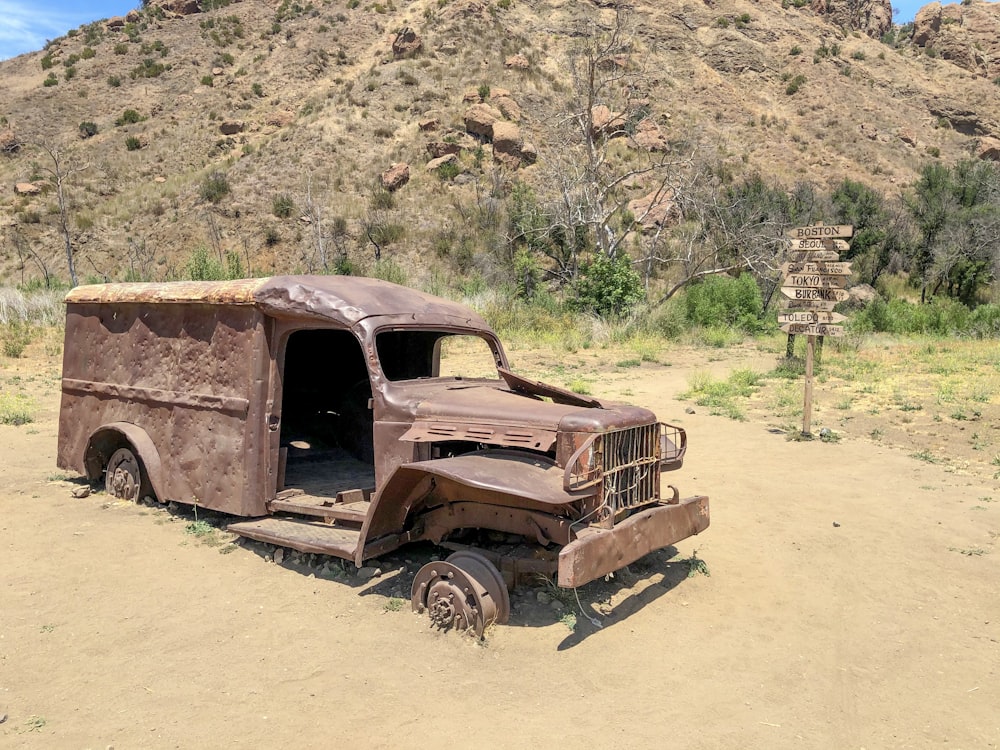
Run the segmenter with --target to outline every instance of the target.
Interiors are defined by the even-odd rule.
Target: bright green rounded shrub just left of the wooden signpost
[[[709,276],[691,284],[684,295],[687,319],[704,328],[738,328],[747,333],[764,329],[763,300],[750,274],[737,278]]]

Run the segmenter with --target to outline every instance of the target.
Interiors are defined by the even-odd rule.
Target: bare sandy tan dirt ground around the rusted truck
[[[711,527],[580,589],[583,611],[516,594],[484,643],[394,610],[426,550],[331,580],[201,543],[183,513],[74,498],[58,359],[0,360],[37,404],[0,426],[0,746],[997,747],[998,482],[676,399],[695,370],[769,356],[593,353],[595,394],[688,430],[670,478],[711,497]],[[695,551],[710,575],[688,576]]]

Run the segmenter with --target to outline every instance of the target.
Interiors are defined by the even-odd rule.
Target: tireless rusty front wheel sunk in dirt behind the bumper
[[[487,626],[510,618],[510,596],[500,571],[479,552],[462,550],[427,563],[410,589],[413,611],[427,612],[439,628],[482,637]]]

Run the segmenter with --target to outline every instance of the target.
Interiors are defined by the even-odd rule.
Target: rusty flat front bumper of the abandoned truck
[[[704,531],[708,520],[708,498],[697,495],[648,508],[611,529],[582,529],[559,553],[559,585],[574,588],[613,573],[653,550]]]

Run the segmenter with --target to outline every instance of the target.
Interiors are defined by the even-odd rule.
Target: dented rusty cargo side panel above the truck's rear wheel
[[[94,431],[128,422],[149,435],[166,467],[162,499],[237,514],[262,507],[245,504],[248,363],[261,318],[234,305],[71,302],[59,465],[83,471]]]

